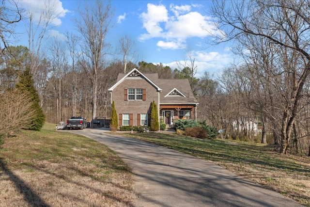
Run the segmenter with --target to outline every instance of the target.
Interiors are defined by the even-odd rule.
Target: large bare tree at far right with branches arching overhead
[[[286,88],[282,88],[287,94],[281,103],[280,139],[280,152],[286,154],[310,75],[310,1],[215,1],[213,14],[219,19],[218,29],[225,31],[227,41],[244,35],[258,36],[268,39],[271,47],[278,47],[287,56],[296,54],[298,67],[283,64],[280,69],[284,73],[274,77],[286,82]]]

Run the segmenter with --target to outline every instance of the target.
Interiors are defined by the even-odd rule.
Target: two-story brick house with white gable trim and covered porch
[[[151,104],[158,107],[158,119],[168,126],[175,119],[195,119],[198,101],[187,79],[158,79],[158,74],[142,74],[134,68],[119,74],[109,88],[114,101],[119,126],[150,125]]]

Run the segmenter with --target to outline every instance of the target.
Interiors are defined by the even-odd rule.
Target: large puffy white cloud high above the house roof
[[[191,37],[222,36],[221,32],[217,31],[215,22],[210,16],[203,16],[199,12],[191,11],[191,8],[190,5],[171,4],[169,13],[165,5],[148,3],[147,12],[140,15],[143,28],[147,31],[147,33],[140,35],[140,41],[162,38],[166,41],[158,41],[158,47],[175,49],[184,48],[186,40]]]

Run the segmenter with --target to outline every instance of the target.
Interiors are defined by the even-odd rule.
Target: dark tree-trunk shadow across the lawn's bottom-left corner
[[[5,175],[9,176],[9,179],[14,183],[16,189],[24,196],[26,201],[32,207],[49,207],[40,196],[38,196],[30,186],[28,186],[21,178],[15,175],[10,169],[7,168],[6,164],[0,158],[0,167],[4,171]]]

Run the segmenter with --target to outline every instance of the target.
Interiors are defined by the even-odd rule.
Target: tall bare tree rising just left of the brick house
[[[82,55],[79,63],[92,82],[92,118],[95,119],[100,88],[99,72],[104,69],[105,57],[110,49],[106,37],[111,28],[113,12],[110,2],[104,5],[103,1],[97,0],[92,6],[86,4],[78,14],[80,19],[76,20],[76,27],[82,36]]]

